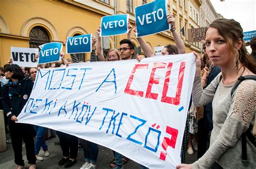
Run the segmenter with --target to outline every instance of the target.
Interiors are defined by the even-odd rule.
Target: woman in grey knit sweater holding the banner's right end
[[[177,168],[256,167],[255,138],[251,129],[248,130],[252,128],[256,110],[256,81],[253,80],[256,62],[247,53],[243,37],[242,27],[233,19],[216,19],[206,29],[206,53],[212,65],[220,67],[221,74],[204,90],[200,57],[194,52],[193,102],[201,106],[212,101],[213,130],[210,148],[204,156],[193,164],[180,164]],[[244,79],[249,77],[252,79]],[[234,88],[236,82],[241,83]]]

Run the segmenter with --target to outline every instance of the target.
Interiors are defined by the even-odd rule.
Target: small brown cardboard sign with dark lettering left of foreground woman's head
[[[205,30],[206,27],[188,29],[188,42],[192,43],[195,41],[201,41],[205,39]]]

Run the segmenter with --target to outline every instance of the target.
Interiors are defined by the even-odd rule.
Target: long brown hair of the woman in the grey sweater
[[[227,40],[230,51],[233,51],[235,49],[234,43],[238,42],[239,38],[244,38],[240,23],[235,21],[234,19],[219,18],[214,20],[209,25],[209,27],[217,29],[220,36]],[[205,34],[209,27],[207,27]],[[250,54],[248,54],[245,46],[246,45],[244,41],[242,41],[241,48],[237,50],[239,62],[241,63],[242,67],[248,68],[252,73],[256,74],[256,61],[253,57],[250,56]]]

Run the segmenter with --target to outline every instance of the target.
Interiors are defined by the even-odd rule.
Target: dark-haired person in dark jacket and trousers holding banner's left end
[[[24,105],[28,101],[33,88],[33,82],[30,79],[24,79],[24,73],[16,64],[5,68],[5,77],[9,82],[3,86],[2,102],[4,112],[9,118],[9,129],[14,149],[15,168],[24,168],[22,159],[22,139],[26,145],[26,158],[28,159],[28,168],[36,168],[35,145],[33,137],[35,130],[33,125],[24,123],[15,123],[17,116],[21,113]]]

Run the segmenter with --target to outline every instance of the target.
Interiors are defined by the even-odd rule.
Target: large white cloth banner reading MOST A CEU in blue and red
[[[193,53],[40,69],[18,122],[75,135],[150,168],[175,168]]]

